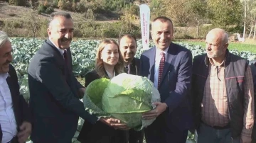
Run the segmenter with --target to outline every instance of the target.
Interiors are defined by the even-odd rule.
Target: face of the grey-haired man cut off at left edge
[[[12,61],[11,51],[11,42],[7,40],[0,47],[0,74],[7,73],[9,71],[9,64]]]

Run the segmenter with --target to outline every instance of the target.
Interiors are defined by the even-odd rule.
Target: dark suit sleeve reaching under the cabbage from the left
[[[83,103],[74,96],[65,79],[59,74],[61,73],[60,69],[53,64],[52,60],[54,59],[41,59],[41,64],[36,70],[36,76],[39,81],[48,88],[53,98],[64,108],[72,110],[84,120],[95,123],[97,117],[90,115],[85,110]]]

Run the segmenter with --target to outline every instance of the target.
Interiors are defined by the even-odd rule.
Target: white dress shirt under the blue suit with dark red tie
[[[161,61],[161,52],[164,52],[165,54],[165,59],[167,58],[167,51],[169,50],[169,47],[166,48],[166,50],[162,51],[162,50],[159,50],[157,47],[156,47],[156,58],[155,58],[155,67],[154,67],[154,86],[156,88],[158,88],[158,76],[159,76],[159,64],[160,64],[160,61]]]

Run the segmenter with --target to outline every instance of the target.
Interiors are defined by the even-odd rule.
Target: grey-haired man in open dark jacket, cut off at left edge
[[[19,93],[11,51],[8,36],[0,31],[0,142],[23,143],[31,134],[31,113]]]

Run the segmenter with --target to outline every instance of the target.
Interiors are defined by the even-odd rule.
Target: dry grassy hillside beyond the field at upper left
[[[53,10],[62,11],[58,8]],[[127,28],[124,27],[126,25],[120,24],[120,15],[117,12],[97,13],[93,19],[85,18],[85,13],[68,13],[75,23],[75,38],[116,38],[120,31],[127,33]],[[47,37],[48,18],[49,14],[38,14],[38,9],[11,6],[0,1],[0,30],[4,30],[11,37]]]

